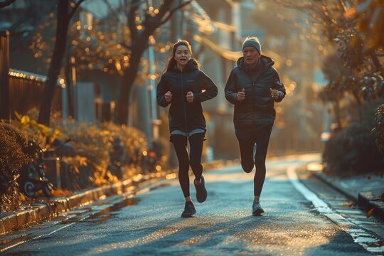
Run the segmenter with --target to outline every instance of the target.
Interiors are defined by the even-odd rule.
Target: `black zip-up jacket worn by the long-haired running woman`
[[[165,93],[170,91],[171,102],[166,102]],[[186,100],[187,92],[193,92],[193,102]],[[199,70],[196,60],[191,59],[183,72],[178,68],[168,70],[161,76],[157,85],[157,104],[169,107],[169,130],[191,132],[193,129],[206,130],[206,119],[201,102],[218,95],[218,87],[203,71]]]

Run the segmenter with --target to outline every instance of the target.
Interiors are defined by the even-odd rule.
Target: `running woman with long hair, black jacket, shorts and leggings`
[[[218,88],[200,70],[197,60],[191,58],[192,48],[188,41],[177,41],[168,60],[166,73],[157,85],[157,103],[169,107],[169,130],[171,142],[178,158],[178,181],[186,198],[181,217],[196,213],[189,194],[189,166],[195,175],[196,199],[203,203],[207,198],[201,165],[201,153],[206,134],[206,119],[201,102],[218,94]],[[186,149],[189,141],[190,152]]]

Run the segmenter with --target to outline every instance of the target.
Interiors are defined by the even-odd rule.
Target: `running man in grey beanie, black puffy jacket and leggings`
[[[261,54],[257,37],[242,43],[242,57],[225,85],[225,98],[235,105],[233,123],[240,146],[242,169],[250,173],[255,164],[252,215],[261,215],[260,194],[265,180],[265,158],[276,117],[274,102],[285,97],[285,88],[272,67],[274,60]]]

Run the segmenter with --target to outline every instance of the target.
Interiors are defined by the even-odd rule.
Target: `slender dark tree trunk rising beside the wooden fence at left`
[[[46,84],[44,85],[43,97],[41,100],[38,122],[49,125],[50,108],[53,96],[55,95],[56,83],[60,73],[61,63],[65,53],[68,32],[68,4],[69,0],[58,1],[58,25],[56,27],[56,41],[53,49],[52,60],[48,70]]]

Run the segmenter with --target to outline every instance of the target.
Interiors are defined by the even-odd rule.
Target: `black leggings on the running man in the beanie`
[[[262,185],[265,181],[265,158],[267,157],[267,149],[270,142],[271,132],[271,127],[264,127],[250,138],[238,138],[242,169],[246,173],[250,173],[253,169],[253,164],[255,164],[256,167],[255,177],[253,178],[255,196],[260,196]],[[253,156],[254,144],[256,144],[255,156]]]

